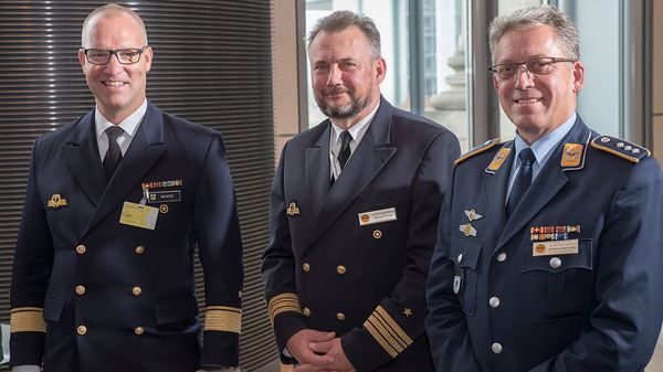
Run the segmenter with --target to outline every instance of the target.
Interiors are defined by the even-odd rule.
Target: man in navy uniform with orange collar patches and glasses
[[[590,130],[578,32],[540,6],[490,31],[516,126],[456,160],[427,283],[438,371],[643,371],[663,315],[663,176]]]

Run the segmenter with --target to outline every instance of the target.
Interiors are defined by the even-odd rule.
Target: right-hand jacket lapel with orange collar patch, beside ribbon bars
[[[585,163],[585,155],[587,153],[587,142],[590,138],[590,130],[587,128],[585,123],[580,119],[580,116],[576,119],[573,127],[564,137],[564,139],[552,150],[552,155],[538,173],[532,185],[527,189],[523,199],[516,205],[512,217],[506,222],[506,226],[497,241],[497,245],[494,252],[497,252],[504,246],[514,235],[523,230],[527,223],[534,219],[538,212],[550,202],[552,198],[564,188],[568,182],[568,178],[565,171],[580,170],[580,168],[568,168],[565,169],[561,166],[561,155],[565,148],[565,144],[583,144],[581,163]],[[506,190],[503,194],[503,201],[506,194]],[[504,203],[503,203],[504,209]]]

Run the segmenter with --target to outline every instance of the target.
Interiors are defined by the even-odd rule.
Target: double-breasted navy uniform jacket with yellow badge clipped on
[[[95,137],[92,111],[34,145],[11,284],[12,364],[43,357],[45,372],[236,365],[242,244],[221,135],[148,104],[108,184]],[[124,203],[139,203],[144,188],[158,211],[155,228],[120,224]]]

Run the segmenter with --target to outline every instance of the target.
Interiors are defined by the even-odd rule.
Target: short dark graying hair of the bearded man
[[[376,28],[376,23],[372,19],[366,15],[359,17],[349,10],[338,10],[317,20],[308,33],[306,46],[311,47],[311,43],[320,31],[338,32],[350,26],[356,26],[364,33],[373,52],[373,57],[379,57],[381,55],[381,43],[380,32]]]

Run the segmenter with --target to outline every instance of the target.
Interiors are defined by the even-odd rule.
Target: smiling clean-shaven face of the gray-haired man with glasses
[[[524,62],[536,57],[567,57],[557,44],[557,33],[548,25],[506,32],[495,47],[495,64]],[[582,89],[581,62],[556,63],[546,75],[519,67],[506,81],[493,76],[499,104],[523,139],[532,145],[561,126],[576,110]]]

